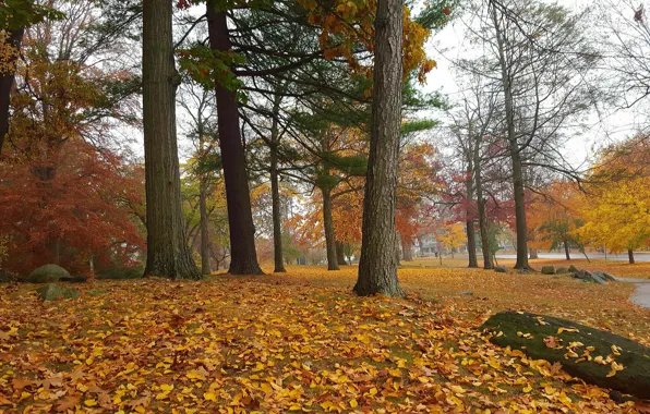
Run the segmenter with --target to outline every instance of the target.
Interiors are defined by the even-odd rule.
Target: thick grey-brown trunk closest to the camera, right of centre
[[[359,276],[354,292],[400,296],[395,258],[397,159],[401,124],[404,2],[378,0],[371,139]]]

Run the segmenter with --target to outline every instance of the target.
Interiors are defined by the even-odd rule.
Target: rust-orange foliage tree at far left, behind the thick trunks
[[[0,163],[2,267],[27,272],[57,263],[91,275],[95,266],[132,265],[144,248],[143,182],[139,168],[104,145],[124,74],[52,59],[44,32],[26,33]]]

